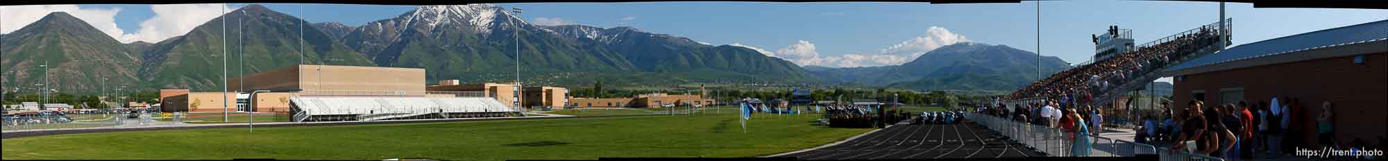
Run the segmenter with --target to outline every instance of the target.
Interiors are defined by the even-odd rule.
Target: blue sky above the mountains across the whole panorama
[[[229,4],[237,8],[244,4]],[[343,22],[361,25],[396,17],[415,6],[358,6],[358,4],[265,4],[271,10],[303,15],[311,22]],[[741,44],[756,47],[768,56],[791,60],[801,65],[870,67],[894,65],[940,43],[979,42],[1006,44],[1035,51],[1035,3],[997,4],[929,4],[929,3],[522,3],[498,4],[522,7],[522,14],[534,24],[582,24],[594,26],[636,26],[647,32],[672,33],[711,44]],[[122,42],[161,40],[176,36],[178,24],[201,24],[219,14],[219,6],[165,7],[180,11],[183,21],[160,35],[143,35],[146,22],[158,15],[146,4],[76,6],[76,10],[118,10],[114,26]],[[1227,17],[1234,18],[1234,43],[1251,43],[1319,29],[1381,21],[1388,10],[1344,8],[1252,8],[1248,3],[1228,3]],[[6,11],[14,7],[3,7]],[[60,10],[60,7],[51,7]],[[26,11],[26,10],[19,10]],[[1094,53],[1091,33],[1101,33],[1108,25],[1133,29],[1138,43],[1151,42],[1199,25],[1217,21],[1219,3],[1199,1],[1042,1],[1041,54],[1056,56],[1067,62],[1088,61]],[[17,11],[4,12],[7,17]],[[43,11],[28,11],[43,12]],[[193,14],[189,14],[193,12]],[[44,12],[46,14],[46,12]],[[33,14],[24,17],[36,17]],[[37,14],[42,17],[42,14]],[[86,17],[79,18],[92,21]],[[110,15],[108,15],[110,17]],[[3,32],[18,26],[7,18]],[[168,18],[174,19],[174,18]],[[32,22],[32,21],[31,21]],[[164,22],[164,21],[160,21]],[[94,26],[100,22],[92,22]],[[934,29],[933,29],[934,28]],[[183,31],[186,32],[186,31]],[[897,46],[895,49],[892,46]]]

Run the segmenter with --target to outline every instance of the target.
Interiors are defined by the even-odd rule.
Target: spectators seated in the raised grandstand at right
[[[1042,97],[1088,103],[1095,94],[1102,94],[1098,92],[1180,61],[1196,50],[1217,43],[1219,37],[1216,28],[1199,28],[1169,42],[1137,47],[1128,53],[1060,71],[1008,94],[1006,99]]]

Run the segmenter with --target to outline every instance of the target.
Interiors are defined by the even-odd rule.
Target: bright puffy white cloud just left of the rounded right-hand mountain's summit
[[[926,51],[936,50],[940,49],[941,46],[948,46],[959,42],[969,42],[969,39],[965,37],[963,35],[956,35],[954,32],[949,32],[949,29],[945,28],[930,26],[926,29],[926,35],[916,36],[915,39],[909,39],[898,44],[894,44],[891,47],[883,49],[881,54],[911,56],[909,58],[913,60],[916,57],[920,57],[920,54],[926,54]]]

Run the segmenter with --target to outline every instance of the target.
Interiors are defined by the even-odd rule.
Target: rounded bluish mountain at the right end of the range
[[[965,42],[941,46],[901,65],[805,68],[822,80],[838,83],[926,90],[1013,90],[1070,65],[1058,57],[1037,57],[1035,53],[1002,44]]]

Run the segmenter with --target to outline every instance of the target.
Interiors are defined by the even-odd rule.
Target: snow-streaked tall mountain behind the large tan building
[[[630,26],[533,25],[493,4],[422,6],[364,24],[341,42],[380,67],[448,71],[429,79],[511,74],[512,69],[505,68],[514,68],[516,49],[520,50],[520,65],[533,71],[708,71],[809,78],[790,61],[765,57],[750,49],[715,47]]]

